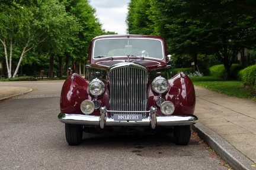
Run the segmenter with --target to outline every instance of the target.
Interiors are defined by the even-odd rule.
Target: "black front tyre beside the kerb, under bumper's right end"
[[[191,136],[191,125],[174,126],[174,142],[177,145],[188,145]]]

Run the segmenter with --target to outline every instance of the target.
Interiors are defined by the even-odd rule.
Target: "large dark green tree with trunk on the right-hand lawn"
[[[169,19],[161,31],[168,35],[171,47],[185,44],[184,48],[180,48],[185,53],[193,54],[190,50],[194,49],[197,53],[215,55],[225,66],[226,79],[231,78],[230,68],[239,50],[255,45],[255,24],[252,22],[255,11],[248,12],[244,8],[230,3],[221,4],[216,0],[170,0],[164,5],[164,12],[168,11]]]

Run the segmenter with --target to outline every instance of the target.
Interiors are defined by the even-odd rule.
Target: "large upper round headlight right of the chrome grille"
[[[169,83],[164,77],[156,77],[152,82],[152,89],[158,94],[165,93],[169,89]]]

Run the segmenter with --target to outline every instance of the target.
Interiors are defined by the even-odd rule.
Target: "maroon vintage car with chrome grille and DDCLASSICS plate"
[[[196,97],[184,73],[172,76],[165,41],[152,35],[103,35],[91,41],[85,77],[73,73],[60,97],[69,145],[83,132],[139,133],[168,129],[187,145]]]

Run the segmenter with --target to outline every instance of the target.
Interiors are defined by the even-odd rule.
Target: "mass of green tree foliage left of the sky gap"
[[[31,68],[34,70],[40,70],[39,67],[46,70],[49,65],[54,65],[49,64],[49,57],[60,58],[64,55],[67,57],[67,66],[69,57],[72,57],[73,62],[84,63],[89,42],[100,34],[103,34],[101,24],[95,18],[95,9],[89,5],[88,0],[1,1],[1,63],[5,64],[4,60],[11,60],[7,63],[11,62],[12,66],[17,68],[20,64],[37,67]],[[11,42],[12,58],[11,53],[8,54]],[[4,45],[7,46],[6,49]],[[51,60],[50,63],[52,62]],[[39,66],[40,63],[44,63],[44,66]],[[49,70],[52,72],[54,69]]]

